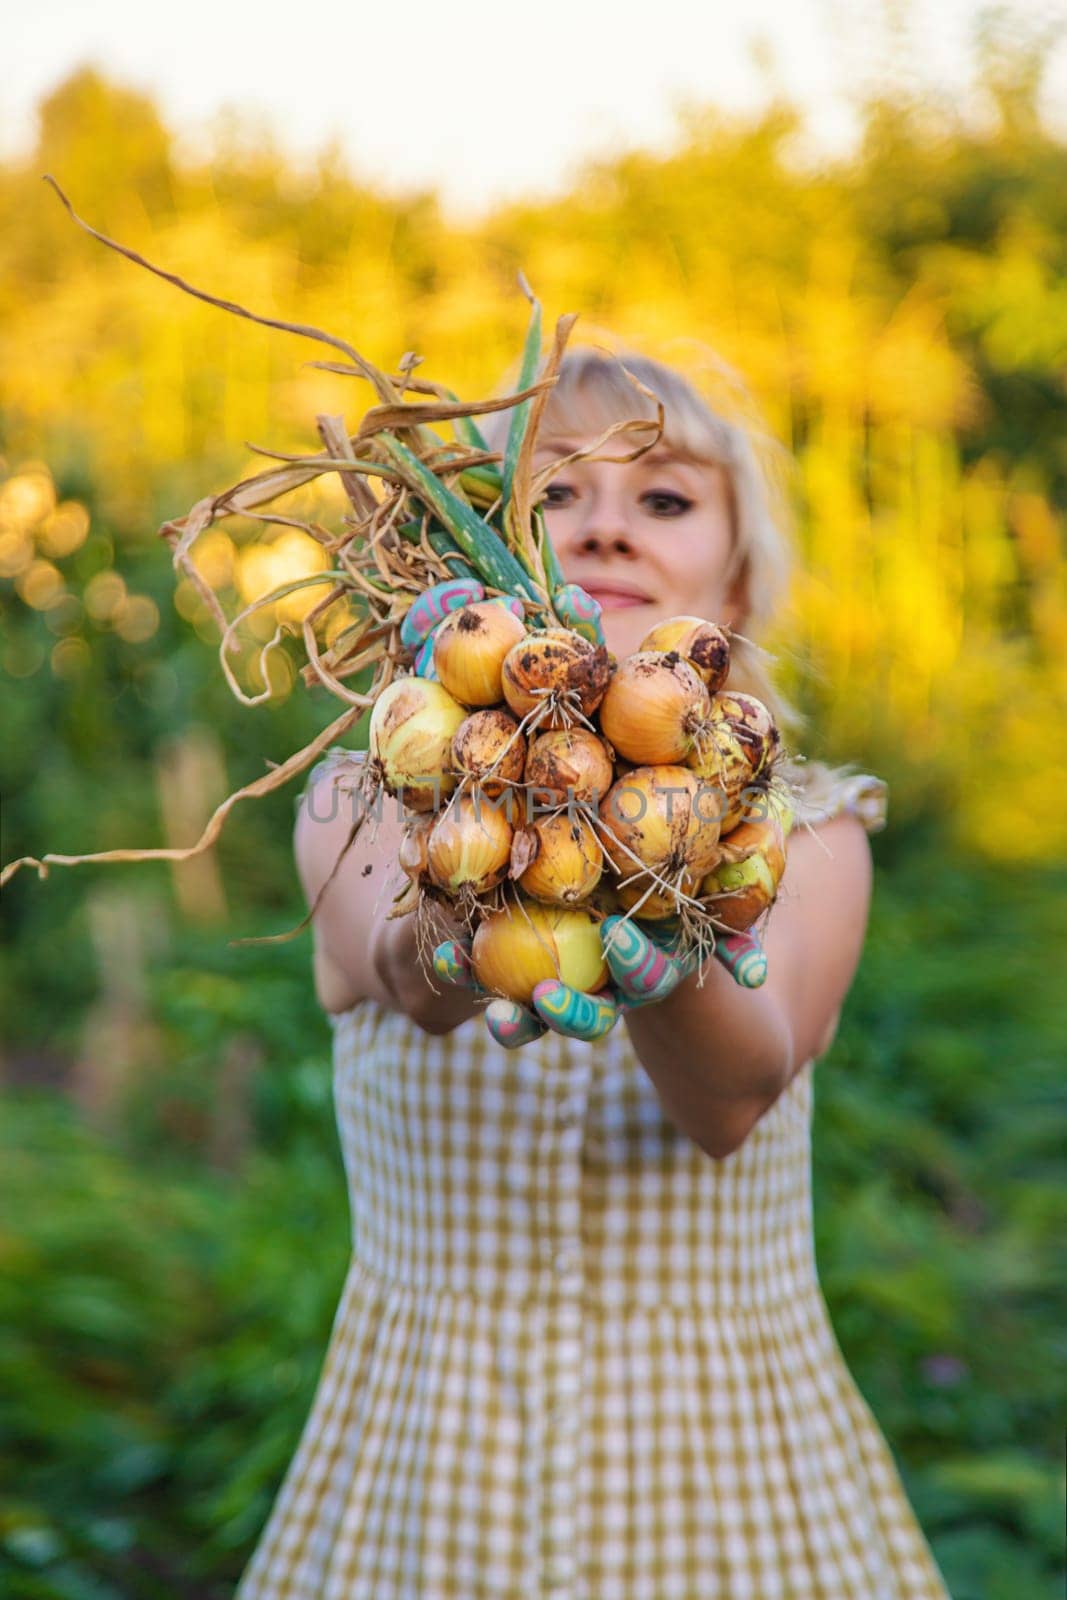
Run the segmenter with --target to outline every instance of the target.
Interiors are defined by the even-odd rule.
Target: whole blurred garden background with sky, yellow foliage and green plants
[[[723,363],[744,374],[793,462],[774,646],[806,749],[891,782],[819,1067],[824,1286],[953,1600],[1051,1595],[1062,11],[549,3],[520,38],[498,6],[416,5],[398,38],[358,6],[286,30],[26,10],[0,115],[3,861],[189,843],[331,720],[294,642],[237,704],[157,530],[251,443],[318,448],[318,413],[366,405],[314,347],[106,251],[42,173],[216,294],[382,366],[418,350],[462,394],[515,358],[520,270],[579,336],[731,403]],[[322,558],[251,520],[197,550],[232,610]],[[306,934],[229,941],[302,914],[294,797],[178,869],[6,890],[3,1594],[221,1600],[293,1453],[347,1250],[330,1037]]]

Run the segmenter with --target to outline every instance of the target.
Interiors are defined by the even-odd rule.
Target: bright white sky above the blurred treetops
[[[19,0],[0,58],[0,154],[24,149],[40,96],[93,62],[150,90],[194,144],[235,109],[296,157],[338,139],[357,173],[389,189],[437,186],[470,214],[552,190],[587,155],[669,144],[678,104],[752,107],[768,83],[806,107],[816,147],[841,149],[864,83],[963,93],[981,10],[981,0],[304,0],[277,10]],[[1017,26],[1059,26],[1046,106],[1067,126],[1067,0],[1000,10]]]

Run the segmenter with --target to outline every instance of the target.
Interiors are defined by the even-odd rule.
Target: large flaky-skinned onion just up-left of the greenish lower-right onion
[[[600,803],[601,838],[622,880],[662,890],[699,880],[718,861],[717,805],[686,766],[635,766]],[[685,877],[683,877],[685,875]]]

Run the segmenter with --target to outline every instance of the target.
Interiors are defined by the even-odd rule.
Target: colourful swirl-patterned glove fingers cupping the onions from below
[[[485,1011],[490,1034],[506,1050],[539,1038],[547,1029],[568,1038],[603,1038],[622,1011],[654,1005],[696,971],[696,957],[673,954],[673,936],[638,926],[625,917],[608,917],[601,928],[605,960],[613,984],[597,994],[544,979],[533,992],[533,1010],[515,1000],[491,1000]],[[736,933],[715,944],[715,958],[734,982],[758,989],[766,978],[766,957],[753,933]],[[470,941],[448,939],[434,952],[434,971],[443,982],[485,995],[470,966]]]

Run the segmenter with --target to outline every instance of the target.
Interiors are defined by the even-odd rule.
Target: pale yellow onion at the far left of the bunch
[[[467,710],[443,683],[397,678],[374,701],[370,747],[389,794],[432,811],[456,787],[453,734]]]

